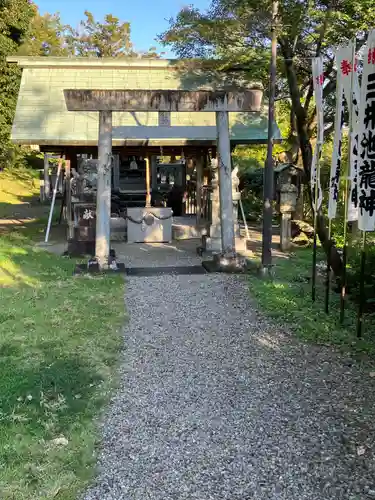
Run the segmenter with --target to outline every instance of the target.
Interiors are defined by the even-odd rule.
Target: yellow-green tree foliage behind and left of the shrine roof
[[[30,0],[0,0],[0,163],[13,160],[17,148],[9,141],[21,71],[7,64],[10,55],[84,57],[160,57],[151,47],[136,52],[130,24],[108,14],[103,22],[85,12],[74,29],[59,14],[43,14]]]

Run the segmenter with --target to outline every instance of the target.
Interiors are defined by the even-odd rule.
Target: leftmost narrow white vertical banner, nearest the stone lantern
[[[323,72],[322,57],[313,58],[312,76],[313,76],[314,98],[315,98],[316,116],[317,116],[317,138],[311,163],[310,182],[312,190],[313,208],[316,211],[319,210],[323,201],[322,188],[320,185],[320,167],[319,167],[320,156],[324,140],[324,109],[323,109],[324,72]],[[317,194],[315,192],[316,189],[318,189]],[[317,201],[317,206],[315,206],[315,201]]]

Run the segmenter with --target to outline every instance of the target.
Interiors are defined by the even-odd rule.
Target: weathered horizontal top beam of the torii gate
[[[263,91],[65,89],[68,111],[259,112]]]

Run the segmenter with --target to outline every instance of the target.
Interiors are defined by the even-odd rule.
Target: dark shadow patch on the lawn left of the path
[[[69,435],[79,418],[91,418],[99,401],[94,397],[103,381],[88,362],[79,357],[56,356],[49,349],[44,360],[25,360],[23,351],[13,343],[3,343],[0,361],[2,431],[16,422],[24,432],[42,439]]]

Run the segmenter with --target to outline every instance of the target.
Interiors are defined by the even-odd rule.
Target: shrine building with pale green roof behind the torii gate
[[[168,92],[180,91],[201,99],[199,92],[215,92],[223,88],[235,91],[237,86],[245,85],[254,95],[258,95],[258,91],[262,93],[260,85],[239,83],[236,75],[202,69],[202,65],[194,61],[18,56],[8,57],[7,61],[22,69],[12,142],[38,145],[45,153],[47,166],[48,155],[63,158],[69,178],[71,172],[80,172],[82,176],[87,169],[95,169],[99,113],[82,106],[77,111],[68,109],[67,92],[72,93],[74,89],[107,93],[155,91],[167,98]],[[256,111],[252,112],[238,111],[237,108],[233,108],[236,109],[233,112],[228,108],[231,150],[238,145],[265,144],[267,106],[258,103],[252,108]],[[190,218],[194,221],[190,226],[194,227],[202,221],[209,223],[211,163],[216,156],[218,133],[215,109],[202,111],[200,103],[191,110],[185,106],[184,112],[173,106],[168,108],[170,111],[160,111],[162,107],[157,106],[136,108],[147,111],[108,109],[113,110],[111,214],[136,207],[167,206],[168,196],[170,199],[172,189],[178,186],[185,194],[179,206],[175,203],[175,219]],[[131,106],[124,109],[131,109]],[[281,140],[276,124],[274,140]],[[91,186],[93,192],[94,184]],[[84,199],[83,193],[73,192],[69,194],[70,202],[89,203],[89,182],[87,186]],[[178,190],[175,191],[178,195]],[[71,226],[68,237],[72,237],[77,225],[74,207],[68,219]],[[174,224],[177,224],[176,220]],[[193,230],[186,234],[193,237],[195,233]]]

